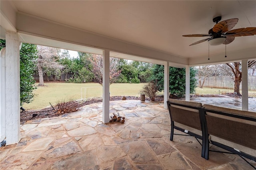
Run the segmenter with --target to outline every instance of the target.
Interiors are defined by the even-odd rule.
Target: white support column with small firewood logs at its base
[[[102,121],[109,122],[109,50],[103,51],[103,97],[102,97]]]

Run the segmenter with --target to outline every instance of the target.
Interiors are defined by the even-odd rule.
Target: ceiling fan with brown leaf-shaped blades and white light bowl
[[[234,41],[235,37],[256,35],[256,27],[247,27],[247,28],[238,28],[231,30],[236,23],[238,18],[232,18],[229,20],[221,21],[221,16],[213,18],[213,22],[216,24],[212,29],[209,30],[208,34],[191,34],[191,35],[182,35],[183,37],[210,37],[196,41],[195,43],[190,44],[196,45],[204,41],[208,41],[210,45],[220,45],[220,44],[229,44]]]

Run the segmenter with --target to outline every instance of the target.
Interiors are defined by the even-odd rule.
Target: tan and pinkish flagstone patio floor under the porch
[[[170,115],[163,104],[111,101],[113,112],[124,115],[125,123],[103,124],[102,103],[60,117],[27,121],[20,127],[20,142],[0,148],[0,169],[253,169],[234,154],[210,152],[209,160],[201,158],[201,146],[193,137],[174,135],[170,141]]]

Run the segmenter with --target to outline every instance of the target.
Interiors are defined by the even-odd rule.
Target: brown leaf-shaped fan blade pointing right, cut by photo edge
[[[226,32],[225,35],[232,35],[233,37],[256,35],[256,27],[233,29],[233,30]]]

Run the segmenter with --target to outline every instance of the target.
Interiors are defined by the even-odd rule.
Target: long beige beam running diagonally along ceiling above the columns
[[[147,59],[169,61],[177,64],[188,64],[188,59],[186,58],[84,31],[68,25],[55,23],[53,21],[43,20],[42,18],[37,18],[20,12],[17,13],[16,28],[18,33],[21,34],[34,35],[37,37],[98,49],[109,49],[110,51],[144,57]],[[32,42],[30,41],[30,43]]]

